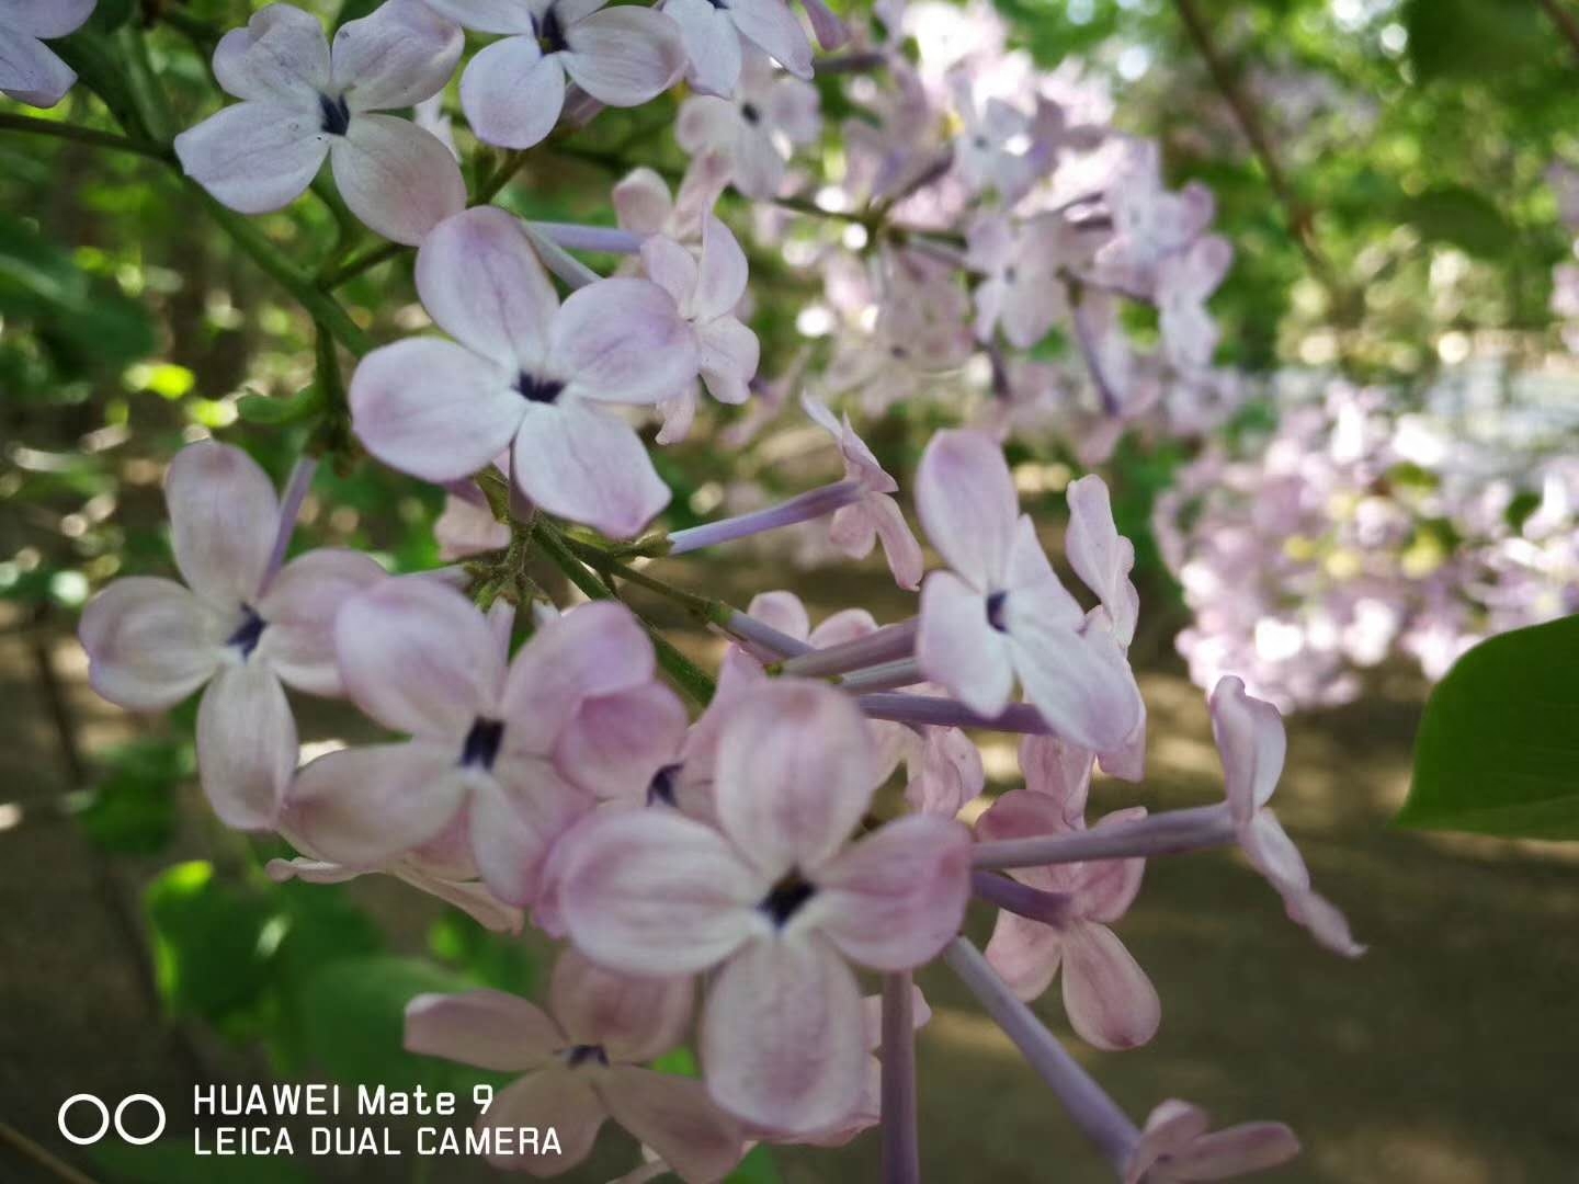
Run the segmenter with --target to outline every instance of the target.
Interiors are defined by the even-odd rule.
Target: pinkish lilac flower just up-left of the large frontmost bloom
[[[641,696],[652,643],[613,603],[587,605],[532,636],[515,661],[466,597],[433,579],[390,581],[339,616],[335,650],[362,710],[412,739],[313,761],[289,822],[311,852],[381,868],[467,830],[488,889],[527,905],[553,843],[592,808],[575,780],[589,701]]]

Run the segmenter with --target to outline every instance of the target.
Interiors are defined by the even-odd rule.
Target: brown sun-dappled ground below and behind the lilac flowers
[[[813,619],[846,603],[840,597],[870,603],[881,595],[878,584],[834,589],[815,575],[778,583],[807,595]],[[753,578],[752,586],[767,584]],[[747,584],[739,587],[718,590],[744,600]],[[898,611],[902,601],[894,603]],[[707,639],[692,641],[698,655],[707,652]],[[82,747],[123,737],[131,721],[93,699],[74,647],[62,643],[54,655]],[[1191,805],[1221,792],[1202,695],[1170,673],[1167,655],[1150,665],[1161,668],[1143,676],[1151,777],[1140,789],[1101,783],[1094,810],[1137,800]],[[0,641],[0,785],[5,805],[21,810],[0,811],[8,822],[0,830],[0,1121],[65,1151],[52,1133],[54,1107],[68,1092],[180,1097],[193,1080],[234,1081],[262,1069],[207,1034],[177,1040],[156,1020],[139,947],[117,909],[136,924],[141,882],[169,859],[106,865],[63,821],[55,729],[22,636]],[[1418,695],[1408,677],[1383,679],[1352,707],[1290,725],[1279,813],[1318,887],[1348,912],[1371,952],[1347,963],[1315,947],[1235,856],[1154,860],[1118,931],[1157,984],[1162,1031],[1134,1053],[1078,1045],[1077,1053],[1135,1118],[1176,1096],[1222,1122],[1285,1119],[1306,1154],[1268,1179],[1568,1181],[1579,1162],[1579,852],[1390,830],[1407,788]],[[343,721],[330,714],[303,731],[327,734]],[[1012,778],[1012,744],[992,740],[985,756],[1000,786]],[[205,827],[193,826],[178,854],[213,857]],[[401,944],[422,947],[434,916],[426,901],[387,882],[363,892],[406,931]],[[971,919],[981,939],[988,924],[985,912]],[[935,1007],[919,1045],[928,1178],[1110,1179],[947,972],[927,972],[922,985]],[[1039,1007],[1064,1031],[1056,988]],[[597,1159],[565,1178],[606,1181],[633,1154],[608,1135]],[[796,1182],[868,1181],[876,1162],[872,1135],[843,1152],[780,1156]],[[412,1178],[393,1162],[339,1168],[335,1179]],[[33,1179],[28,1171],[0,1141],[0,1179]],[[461,1178],[482,1173],[434,1176]]]

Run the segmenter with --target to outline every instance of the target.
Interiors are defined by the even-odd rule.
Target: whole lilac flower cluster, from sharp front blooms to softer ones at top
[[[1360,952],[1268,808],[1282,720],[1235,677],[1211,698],[1225,800],[1086,826],[1096,769],[1145,772],[1135,551],[1086,475],[1067,489],[1061,575],[1001,447],[1045,409],[1088,459],[1131,425],[1211,418],[1205,300],[1232,256],[1211,196],[1164,186],[1153,145],[1060,99],[981,9],[889,5],[881,27],[821,0],[805,14],[812,35],[783,0],[387,0],[330,39],[276,3],[226,33],[213,73],[238,101],[175,139],[180,164],[261,213],[321,185],[327,158],[351,213],[417,248],[437,332],[358,349],[336,412],[371,458],[448,491],[439,541],[464,562],[403,576],[336,551],[286,562],[314,461],[276,496],[245,451],[193,444],[166,480],[186,584],[99,594],[81,628],[93,685],[133,710],[205,688],[204,789],[227,824],[294,845],[276,878],[387,873],[562,942],[546,1007],[474,991],[407,1012],[412,1051],[521,1073],[480,1121],[559,1129],[562,1157],[501,1167],[567,1170],[613,1121],[662,1170],[714,1181],[753,1143],[831,1146],[881,1124],[886,1176],[914,1179],[928,1012],[911,977],[936,961],[1118,1178],[1282,1162],[1298,1149],[1285,1127],[1213,1135],[1176,1100],[1138,1129],[1026,1006],[1061,976],[1082,1039],[1153,1037],[1162,995],[1115,927],[1145,860],[1175,852],[1241,848],[1290,919]],[[461,69],[467,32],[489,41]],[[818,57],[813,35],[851,47]],[[441,98],[456,69],[459,137]],[[842,175],[807,197],[796,152],[821,134],[818,73],[846,77],[862,115]],[[673,194],[652,172],[624,177],[619,226],[521,219],[488,204],[477,167],[467,189],[467,136],[512,153],[502,185],[521,153],[681,79],[690,166]],[[777,384],[758,380],[745,232],[723,219],[737,199],[756,202],[752,245],[799,249],[823,281],[805,313],[832,341]],[[627,262],[605,276],[579,257],[594,253]],[[1154,347],[1123,330],[1123,302],[1156,306]],[[1044,349],[1055,338],[1063,355]],[[900,481],[827,403],[881,409],[973,362],[996,410],[922,453],[911,494],[941,557],[927,571]],[[643,429],[684,437],[703,390],[733,406],[755,393],[753,417],[799,406],[842,478],[662,529],[671,493]],[[881,546],[914,614],[880,625],[850,608],[813,628],[785,592],[741,611],[651,570],[790,527],[843,556]],[[538,560],[589,603],[551,598]],[[624,603],[632,586],[725,643],[715,674]],[[392,739],[302,764],[286,687],[344,696]],[[985,810],[968,808],[985,780],[976,729],[1026,737],[1025,788]],[[962,936],[973,903],[995,916],[985,952]],[[881,980],[875,998],[862,976]],[[679,1045],[699,1080],[651,1069]]]

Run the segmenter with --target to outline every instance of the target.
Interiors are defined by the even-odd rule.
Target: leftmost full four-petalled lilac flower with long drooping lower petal
[[[106,587],[77,630],[88,680],[129,710],[164,710],[207,687],[197,707],[204,792],[227,826],[267,830],[297,761],[281,682],[341,693],[335,614],[384,571],[363,554],[309,551],[275,573],[279,500],[240,448],[183,448],[164,478],[164,500],[186,587],[153,576]]]

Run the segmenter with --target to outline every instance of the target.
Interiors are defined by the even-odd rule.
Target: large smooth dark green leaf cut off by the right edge
[[[1426,704],[1397,824],[1579,838],[1579,617],[1459,658]]]

